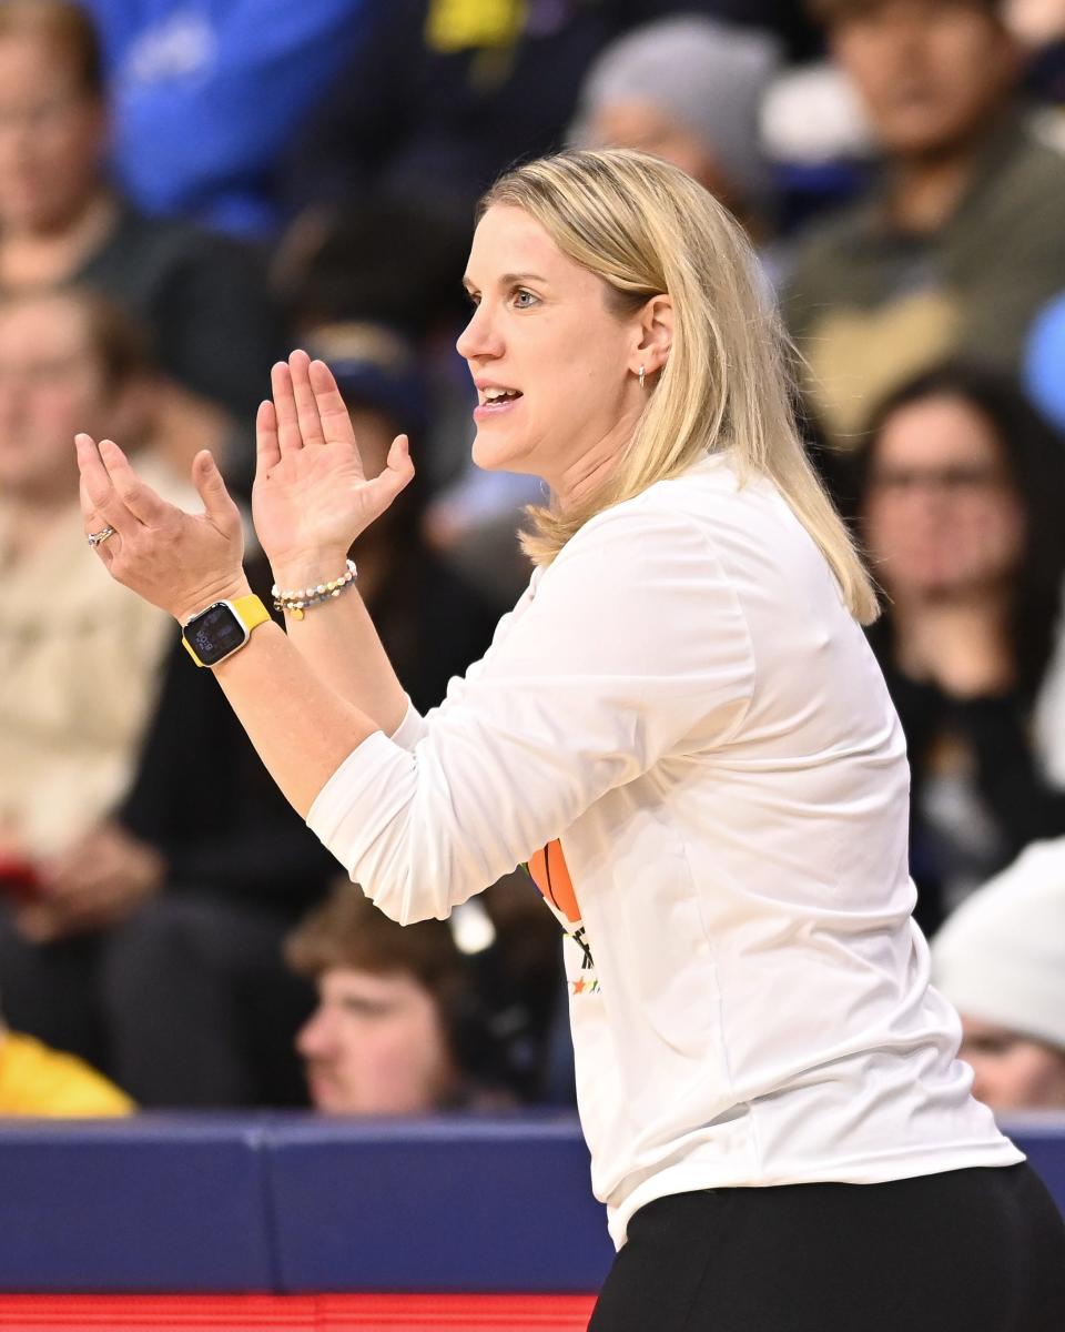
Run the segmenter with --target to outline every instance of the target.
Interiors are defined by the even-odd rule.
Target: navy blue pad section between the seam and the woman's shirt
[[[596,1291],[612,1259],[571,1116],[270,1131],[284,1291]]]

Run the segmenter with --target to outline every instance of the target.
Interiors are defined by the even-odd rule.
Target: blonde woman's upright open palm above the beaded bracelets
[[[407,438],[397,436],[385,470],[367,480],[325,362],[293,352],[273,368],[270,386],[273,401],[256,418],[256,533],[280,582],[333,577],[351,542],[413,478]]]

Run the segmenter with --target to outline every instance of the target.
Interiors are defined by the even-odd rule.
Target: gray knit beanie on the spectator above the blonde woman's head
[[[772,194],[759,139],[761,100],[780,65],[767,33],[699,15],[650,23],[611,43],[584,77],[570,141],[588,143],[600,107],[650,101],[682,121],[749,202]]]

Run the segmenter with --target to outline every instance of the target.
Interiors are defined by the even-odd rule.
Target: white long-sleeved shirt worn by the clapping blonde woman
[[[667,1193],[1024,1159],[928,987],[908,787],[825,561],[715,457],[582,527],[308,822],[401,922],[560,838],[578,1102],[620,1247]]]

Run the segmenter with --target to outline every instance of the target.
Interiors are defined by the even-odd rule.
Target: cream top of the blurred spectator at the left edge
[[[156,454],[136,466],[164,498],[200,507]],[[129,786],[176,626],[85,545],[76,490],[47,541],[17,561],[9,547],[0,498],[0,829],[37,859],[69,847]]]

